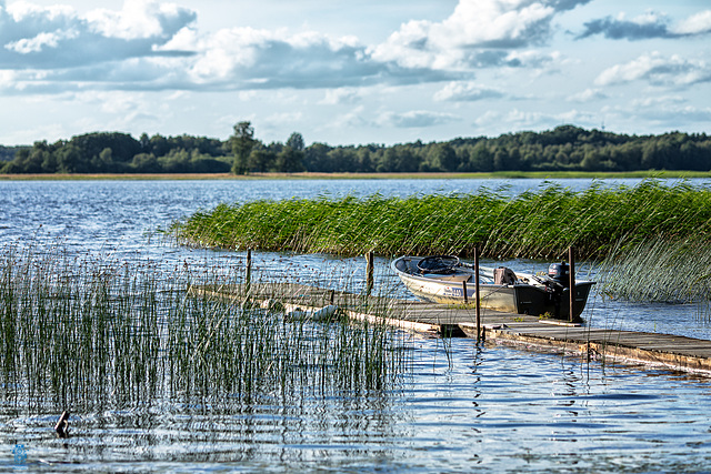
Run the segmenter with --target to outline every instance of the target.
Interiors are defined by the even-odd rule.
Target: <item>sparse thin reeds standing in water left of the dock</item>
[[[407,342],[389,327],[289,321],[246,299],[188,295],[242,274],[208,269],[4,249],[0,396],[30,411],[289,404],[388,390],[407,370]]]

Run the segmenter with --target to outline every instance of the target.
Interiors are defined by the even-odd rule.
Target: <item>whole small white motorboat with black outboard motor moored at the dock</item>
[[[467,302],[475,302],[473,265],[460,262],[457,256],[401,256],[391,268],[420,300],[461,304],[465,291]],[[564,262],[551,264],[548,274],[543,275],[517,273],[503,266],[479,266],[479,275],[481,307],[569,319],[569,265]],[[573,321],[580,321],[593,284],[595,282],[575,280]]]

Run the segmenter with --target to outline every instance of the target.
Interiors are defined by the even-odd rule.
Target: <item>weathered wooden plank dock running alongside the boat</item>
[[[473,305],[445,305],[368,296],[292,283],[203,285],[194,295],[279,303],[284,312],[316,312],[329,305],[348,317],[384,323],[425,336],[477,336]],[[524,314],[485,310],[487,343],[512,344],[580,355],[587,360],[642,363],[711,375],[711,341],[657,333],[605,330]]]

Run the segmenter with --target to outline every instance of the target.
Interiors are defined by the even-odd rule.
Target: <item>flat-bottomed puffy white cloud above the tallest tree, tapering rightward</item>
[[[197,56],[189,61],[188,80],[208,87],[318,89],[429,80],[427,71],[374,61],[351,37],[232,28],[200,38],[191,49]]]

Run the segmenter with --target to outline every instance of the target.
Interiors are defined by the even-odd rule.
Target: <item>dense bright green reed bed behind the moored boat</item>
[[[457,254],[558,259],[574,246],[603,259],[619,242],[650,235],[711,239],[711,190],[685,182],[592,185],[548,183],[510,198],[475,194],[292,199],[219,204],[172,225],[179,242],[207,248],[382,255]]]

